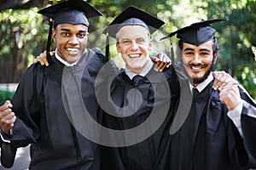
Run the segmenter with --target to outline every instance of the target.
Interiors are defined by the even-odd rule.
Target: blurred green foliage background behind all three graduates
[[[49,1],[49,4],[60,1]],[[256,99],[256,0],[88,0],[98,8],[102,17],[90,19],[88,47],[104,51],[105,35],[102,31],[117,14],[130,5],[142,8],[166,22],[153,35],[154,53],[169,53],[170,40],[160,37],[199,20],[225,18],[214,24],[220,44],[216,70],[224,70],[236,77]],[[45,5],[49,5],[45,4]],[[38,8],[7,9],[0,14],[0,82],[18,82],[32,59],[44,51],[48,35],[48,20],[37,14]],[[177,38],[172,38],[177,42]],[[122,65],[115,50],[115,41],[110,48],[111,57]],[[52,43],[54,49],[54,43]]]

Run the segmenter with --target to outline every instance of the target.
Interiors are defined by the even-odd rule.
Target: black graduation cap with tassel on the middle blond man
[[[150,34],[153,34],[154,31],[158,30],[164,24],[164,21],[139,8],[134,6],[126,8],[103,31],[107,35],[106,56],[109,56],[109,37],[116,38],[116,34],[123,26],[143,26],[148,29]]]

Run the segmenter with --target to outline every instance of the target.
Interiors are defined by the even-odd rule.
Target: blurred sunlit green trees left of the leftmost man
[[[38,8],[29,10],[7,9],[0,14],[1,82],[18,82],[33,56],[45,47],[45,32],[48,28]]]

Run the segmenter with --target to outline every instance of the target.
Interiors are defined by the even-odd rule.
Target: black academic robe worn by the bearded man
[[[219,101],[219,92],[212,89],[212,82],[201,94],[194,95],[189,116],[171,136],[170,169],[236,170],[248,169],[253,163],[255,166],[255,135],[252,133],[255,118],[247,120],[247,111],[243,109],[241,138],[227,116],[226,106]],[[255,111],[255,104],[246,96],[241,90],[241,99],[253,108],[250,111]],[[251,127],[244,123],[246,121]]]

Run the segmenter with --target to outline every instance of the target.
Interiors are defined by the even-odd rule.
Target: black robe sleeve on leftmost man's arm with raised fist
[[[12,110],[17,119],[13,127],[11,144],[15,147],[24,147],[39,138],[40,94],[43,86],[44,71],[39,64],[31,65],[11,101]]]

